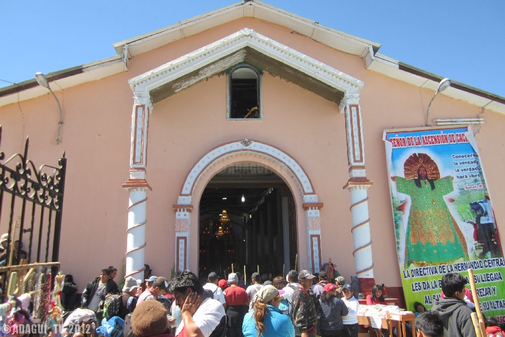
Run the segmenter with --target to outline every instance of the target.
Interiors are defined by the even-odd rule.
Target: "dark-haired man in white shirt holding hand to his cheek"
[[[185,329],[186,335],[209,337],[216,331],[222,335],[226,329],[226,314],[219,301],[204,296],[204,287],[198,277],[189,270],[183,271],[170,281],[169,292],[175,304],[181,308],[182,322],[175,335]]]

